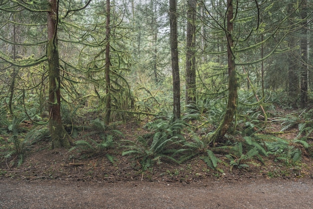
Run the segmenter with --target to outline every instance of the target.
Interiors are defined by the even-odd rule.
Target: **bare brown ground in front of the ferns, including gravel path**
[[[271,124],[272,130],[279,130]],[[137,122],[116,129],[135,140]],[[294,138],[287,131],[284,138]],[[309,142],[310,143],[310,142]],[[208,168],[198,157],[181,164],[162,162],[142,171],[130,156],[107,150],[79,158],[75,151],[49,149],[39,141],[20,166],[0,163],[0,208],[311,208],[313,158],[286,164],[270,157],[246,168]],[[109,160],[106,154],[114,156]],[[219,156],[222,158],[222,156]]]

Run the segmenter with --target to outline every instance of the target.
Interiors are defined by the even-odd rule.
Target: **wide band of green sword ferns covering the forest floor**
[[[297,128],[296,137],[287,140],[266,132],[263,121],[259,119],[259,109],[242,109],[233,123],[234,135],[226,135],[224,143],[211,147],[203,140],[199,129],[214,128],[212,124],[216,125],[222,115],[217,104],[217,101],[202,101],[200,104],[187,105],[182,119],[177,121],[172,121],[168,114],[154,117],[143,127],[148,133],[137,136],[136,140],[125,138],[119,130],[105,125],[100,118],[89,120],[86,133],[72,131],[72,136],[79,136],[80,139],[74,141],[69,151],[75,151],[80,159],[106,156],[109,161],[116,163],[117,159],[111,154],[113,150],[115,154],[129,156],[131,166],[142,173],[165,161],[180,164],[197,158],[203,160],[208,168],[219,170],[226,166],[232,172],[251,165],[264,165],[267,157],[274,162],[294,165],[301,160],[303,152],[312,155],[307,151],[312,147],[308,141],[313,131],[310,120],[312,110],[272,119],[272,122],[281,125],[277,134]],[[45,125],[21,131],[20,124],[24,119],[14,117],[11,121],[1,121],[2,132],[6,126],[6,132],[0,137],[2,161],[15,156],[17,165],[20,165],[29,145],[40,140],[49,141],[49,131]],[[7,136],[3,137],[5,134]],[[10,160],[10,166],[14,161]]]

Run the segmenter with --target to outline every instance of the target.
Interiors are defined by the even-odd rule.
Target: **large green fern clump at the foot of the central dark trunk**
[[[174,155],[182,149],[176,148],[177,144],[184,141],[181,130],[186,126],[182,120],[169,121],[161,118],[146,124],[152,133],[150,137],[139,137],[137,141],[124,140],[127,145],[122,155],[132,155],[134,159],[139,159],[141,169],[144,171],[151,167],[155,162],[161,163],[162,158],[169,159],[178,163]],[[179,146],[178,146],[179,147]]]

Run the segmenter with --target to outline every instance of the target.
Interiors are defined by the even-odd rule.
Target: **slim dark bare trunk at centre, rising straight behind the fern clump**
[[[169,0],[169,27],[171,70],[173,79],[173,120],[180,119],[180,81],[177,48],[177,13],[176,0]]]

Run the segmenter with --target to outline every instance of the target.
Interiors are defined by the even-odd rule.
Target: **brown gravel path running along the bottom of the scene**
[[[313,208],[313,179],[186,184],[3,178],[0,208]]]

